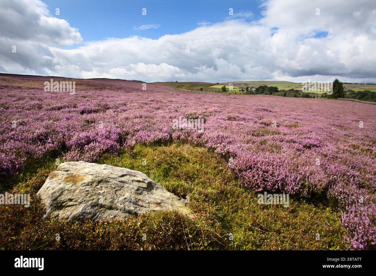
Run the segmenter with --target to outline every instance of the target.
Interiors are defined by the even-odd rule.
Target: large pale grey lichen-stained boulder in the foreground
[[[193,217],[185,199],[144,173],[84,161],[65,162],[38,191],[50,215],[68,221],[121,220],[131,215],[176,210]]]

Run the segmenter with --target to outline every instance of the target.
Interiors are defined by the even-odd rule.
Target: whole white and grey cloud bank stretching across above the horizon
[[[367,0],[267,0],[262,2],[263,17],[258,21],[244,21],[244,17],[251,16],[248,13],[220,23],[203,22],[190,32],[158,39],[108,38],[71,50],[62,49],[61,44],[80,42],[77,29],[64,20],[52,20],[41,2],[22,2],[31,5],[27,9],[32,11],[29,18],[42,20],[33,27],[34,33],[23,33],[22,28],[0,31],[0,45],[9,38],[30,41],[21,44],[22,51],[17,48],[17,55],[1,50],[0,70],[7,72],[143,81],[300,82],[331,81],[335,77],[353,82],[376,81],[376,3]],[[7,5],[9,13],[12,9],[24,12]],[[1,20],[6,24],[17,20],[21,21],[18,24],[26,24],[26,19],[17,18]],[[38,35],[45,33],[44,29],[55,30],[51,33],[56,37],[38,44],[42,39]],[[321,32],[327,32],[327,36],[315,36]]]

